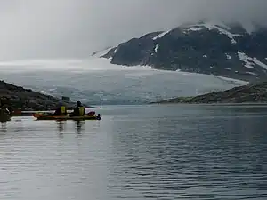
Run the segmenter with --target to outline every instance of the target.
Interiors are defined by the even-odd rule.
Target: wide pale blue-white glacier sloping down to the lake
[[[66,95],[89,105],[145,104],[247,84],[220,76],[114,65],[100,58],[101,54],[104,52],[86,60],[0,62],[0,78],[56,97]]]

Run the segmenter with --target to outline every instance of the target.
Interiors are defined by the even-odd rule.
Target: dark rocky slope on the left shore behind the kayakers
[[[75,107],[75,102],[61,100],[53,96],[34,92],[21,86],[0,81],[0,98],[13,110],[46,111],[53,110],[58,104],[63,103],[68,109]]]

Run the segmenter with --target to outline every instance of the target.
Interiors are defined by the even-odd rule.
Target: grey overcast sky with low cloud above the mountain
[[[3,0],[0,60],[85,58],[201,18],[264,23],[266,9],[267,0]]]

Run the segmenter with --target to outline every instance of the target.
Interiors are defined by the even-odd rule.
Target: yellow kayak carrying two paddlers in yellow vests
[[[33,113],[33,116],[37,118],[37,120],[101,120],[101,116],[52,116],[52,115],[44,115],[41,113]]]

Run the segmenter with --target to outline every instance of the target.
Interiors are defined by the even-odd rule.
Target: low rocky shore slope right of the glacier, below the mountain
[[[211,92],[193,97],[177,97],[150,104],[216,104],[267,103],[267,82],[247,84],[223,92]]]

